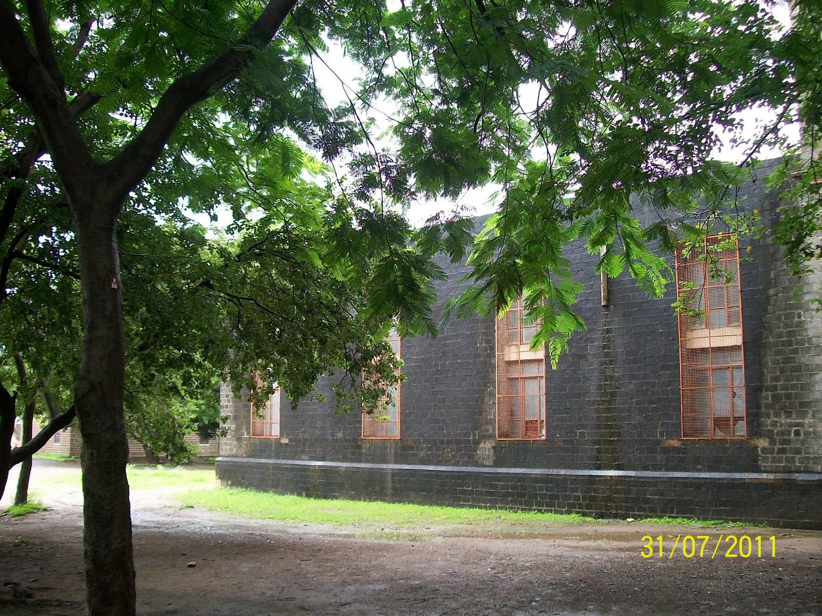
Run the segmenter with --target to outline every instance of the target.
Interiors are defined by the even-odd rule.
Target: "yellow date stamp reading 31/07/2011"
[[[725,545],[723,545],[723,537]],[[657,537],[646,535],[642,538],[642,541],[642,558],[644,559],[649,559],[653,556],[658,556],[660,559],[667,556],[667,558],[672,559],[673,555],[677,553],[677,548],[686,559],[692,559],[695,556],[701,559],[707,557],[709,554],[712,559],[717,555],[719,558],[726,559],[761,559],[763,554],[763,541],[760,536],[749,537],[747,535],[743,535],[741,537],[737,537],[728,535],[726,537],[724,535],[720,535],[716,540],[716,543],[714,543],[708,535],[677,535],[671,551],[667,554],[667,549],[663,549],[662,535]],[[768,545],[769,541],[770,545]],[[658,544],[658,550],[656,549],[657,546],[655,544]],[[767,537],[764,540],[764,544],[764,555],[770,556],[771,558],[776,558],[776,537]],[[722,549],[720,549],[720,545],[722,545]],[[708,548],[707,550],[705,549],[706,547]]]

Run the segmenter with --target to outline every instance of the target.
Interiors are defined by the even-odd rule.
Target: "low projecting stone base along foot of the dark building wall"
[[[319,499],[520,508],[607,518],[699,517],[822,528],[819,476],[314,462],[221,457],[223,485]]]

